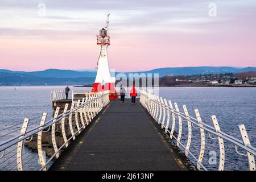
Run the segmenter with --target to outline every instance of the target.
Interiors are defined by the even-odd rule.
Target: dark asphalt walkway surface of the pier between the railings
[[[187,170],[137,101],[110,101],[50,170]]]

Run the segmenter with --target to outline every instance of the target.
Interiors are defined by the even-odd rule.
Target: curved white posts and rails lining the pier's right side
[[[218,170],[224,170],[225,165],[225,143],[224,140],[232,143],[235,146],[235,151],[237,154],[241,156],[246,156],[248,159],[249,169],[251,171],[255,171],[255,159],[254,156],[256,155],[256,148],[251,146],[249,137],[247,135],[245,125],[239,125],[238,128],[240,130],[241,138],[237,139],[228,135],[221,131],[220,126],[218,125],[218,121],[215,115],[212,115],[212,122],[213,126],[207,125],[204,123],[200,117],[199,110],[195,110],[196,118],[193,118],[189,115],[187,107],[183,105],[184,113],[179,110],[177,103],[172,105],[170,100],[166,100],[166,98],[162,98],[159,96],[155,96],[150,92],[146,92],[144,90],[140,90],[141,104],[146,108],[148,113],[155,119],[156,122],[160,125],[162,129],[164,129],[165,133],[168,133],[171,139],[176,141],[177,147],[183,149],[185,152],[185,156],[191,155],[191,157],[197,162],[196,167],[197,169],[203,168],[204,170],[208,170],[203,165],[203,157],[205,151],[205,133],[208,133],[209,138],[213,140],[218,140],[219,149],[220,149],[220,158],[219,158],[219,166]],[[184,121],[187,122],[187,143],[181,143],[181,133],[182,127],[184,125]],[[179,123],[179,131],[177,131],[177,136],[174,134],[175,124],[176,122]],[[191,139],[192,139],[192,127],[195,129],[200,130],[201,136],[201,146],[200,146],[200,153],[199,156],[196,157],[192,152],[189,150],[191,146]],[[215,136],[212,137],[212,135]],[[246,151],[246,154],[241,154],[238,152],[237,147],[241,147],[243,150]]]

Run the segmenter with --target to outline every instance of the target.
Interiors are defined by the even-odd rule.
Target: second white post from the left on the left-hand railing
[[[40,129],[42,129],[44,127],[44,123],[46,122],[46,118],[47,118],[47,113],[43,113],[43,117],[41,119],[40,122]],[[46,171],[46,161],[45,158],[43,156],[43,147],[42,147],[42,134],[43,134],[43,130],[38,132],[38,156],[39,156],[39,160],[40,160],[40,165],[43,167],[43,171]]]

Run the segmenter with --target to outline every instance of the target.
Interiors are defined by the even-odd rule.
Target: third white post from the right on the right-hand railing
[[[200,126],[200,135],[201,135],[201,148],[200,148],[200,154],[199,154],[199,158],[198,158],[198,162],[197,162],[197,169],[200,170],[201,164],[202,164],[203,158],[204,158],[205,133],[204,133],[204,129],[202,129],[202,127],[203,127],[203,122],[202,122],[201,116],[200,116],[200,114],[199,114],[199,110],[196,109],[196,110],[195,110],[195,113],[196,113],[197,121],[198,121],[199,126]]]

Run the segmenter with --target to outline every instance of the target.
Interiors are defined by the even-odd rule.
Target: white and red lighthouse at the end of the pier
[[[100,56],[97,63],[97,76],[93,84],[92,92],[101,92],[109,90],[110,100],[117,100],[118,94],[115,92],[115,80],[110,76],[109,60],[108,60],[108,47],[110,46],[109,36],[109,14],[106,21],[106,27],[100,30],[97,35],[97,45],[100,47]]]

